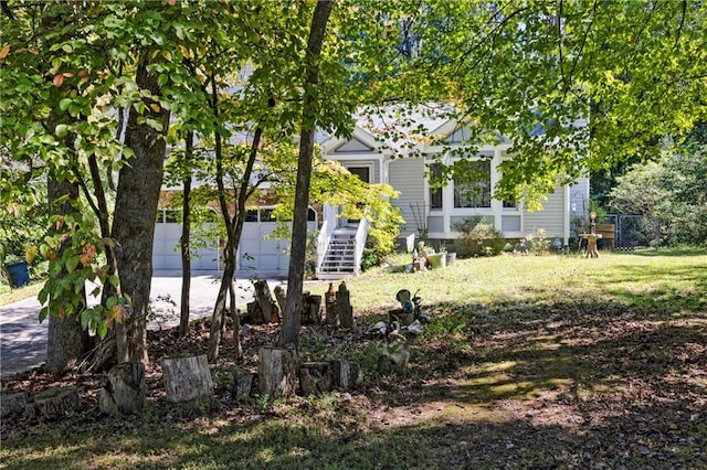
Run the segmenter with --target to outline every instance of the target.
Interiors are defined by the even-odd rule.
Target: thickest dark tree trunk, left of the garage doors
[[[140,89],[159,95],[157,76],[148,73],[149,61],[143,57],[137,66],[136,83]],[[138,116],[130,109],[125,133],[125,143],[134,152],[129,164],[120,168],[113,218],[113,236],[118,244],[117,260],[120,287],[130,297],[131,311],[123,323],[116,324],[118,362],[147,363],[147,310],[150,301],[152,279],[152,239],[155,218],[162,184],[162,165],[166,143],[161,132],[139,117],[149,117],[169,124],[169,111],[159,108],[156,113],[146,99],[146,115]]]

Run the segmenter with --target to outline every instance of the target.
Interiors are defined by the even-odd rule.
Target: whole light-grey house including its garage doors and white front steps
[[[357,125],[348,139],[320,136],[320,151],[325,159],[337,160],[351,173],[369,183],[388,183],[400,192],[392,201],[405,224],[401,226],[402,241],[411,234],[429,241],[452,242],[460,234],[455,225],[471,216],[483,216],[503,232],[507,238],[526,237],[542,228],[550,238],[559,238],[563,245],[571,236],[571,221],[584,215],[589,200],[589,180],[580,179],[573,185],[557,185],[544,210],[526,211],[520,203],[498,201],[492,197],[493,188],[500,178],[498,164],[511,159],[511,142],[498,139],[496,143],[478,149],[478,170],[486,180],[475,183],[474,193],[464,191],[462,184],[450,181],[435,189],[429,182],[429,171],[434,171],[434,157],[442,154],[453,161],[451,149],[464,142],[466,129],[443,113],[408,113],[395,118],[357,116]],[[399,131],[394,137],[383,130]],[[395,132],[393,132],[395,133]],[[434,136],[434,139],[430,138]],[[436,142],[436,143],[435,143]],[[429,167],[432,164],[432,167]],[[168,190],[163,188],[163,192]],[[243,271],[286,271],[289,241],[270,237],[275,228],[272,205],[258,204],[249,211],[238,253],[236,269]],[[181,259],[176,247],[181,234],[180,225],[168,210],[158,216],[152,263],[155,269],[180,269]],[[366,220],[349,221],[339,217],[335,206],[324,205],[319,211],[310,207],[308,224],[318,231],[317,276],[340,278],[359,273],[366,244]],[[434,243],[433,243],[434,245]],[[219,269],[218,243],[202,249],[193,258],[192,268]]]

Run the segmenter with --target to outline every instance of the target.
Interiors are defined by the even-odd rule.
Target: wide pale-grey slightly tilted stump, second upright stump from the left
[[[205,354],[165,357],[160,363],[169,402],[192,403],[213,397],[213,381]]]

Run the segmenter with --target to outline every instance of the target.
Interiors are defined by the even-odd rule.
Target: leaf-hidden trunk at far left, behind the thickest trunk
[[[70,182],[59,182],[54,178],[48,181],[49,204],[53,214],[70,214],[76,210],[72,202],[78,200],[78,186]],[[59,204],[62,196],[67,199]],[[59,256],[63,253],[63,245]],[[63,273],[66,275],[67,273]],[[85,300],[85,293],[84,293]],[[46,339],[46,371],[61,374],[78,364],[91,346],[88,332],[81,327],[80,312],[67,312],[63,318],[50,316]]]

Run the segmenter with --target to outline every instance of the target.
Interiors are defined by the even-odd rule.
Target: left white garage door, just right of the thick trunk
[[[152,242],[152,269],[172,270],[181,269],[181,254],[179,252],[179,238],[181,237],[181,224],[177,217],[179,211],[160,210],[155,225],[155,241]],[[199,249],[191,257],[191,269],[218,270],[218,250],[214,247]]]

